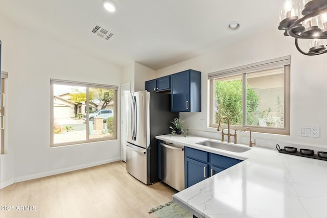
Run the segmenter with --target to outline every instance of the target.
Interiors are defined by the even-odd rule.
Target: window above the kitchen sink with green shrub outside
[[[211,127],[226,115],[232,129],[289,135],[289,56],[213,72],[208,79]]]

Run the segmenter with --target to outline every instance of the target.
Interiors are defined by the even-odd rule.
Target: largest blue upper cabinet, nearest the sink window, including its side
[[[201,72],[193,69],[171,75],[171,111],[201,112]]]

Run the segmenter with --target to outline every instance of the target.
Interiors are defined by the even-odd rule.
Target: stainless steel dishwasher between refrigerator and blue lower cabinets
[[[185,188],[184,146],[167,142],[160,143],[161,181],[181,191]]]

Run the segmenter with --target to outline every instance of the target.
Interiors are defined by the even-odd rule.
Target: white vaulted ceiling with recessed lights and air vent
[[[21,26],[111,63],[154,70],[278,26],[276,0],[0,0],[0,13]],[[230,31],[231,21],[240,29]],[[113,33],[105,40],[91,32]],[[1,30],[4,31],[4,30]]]

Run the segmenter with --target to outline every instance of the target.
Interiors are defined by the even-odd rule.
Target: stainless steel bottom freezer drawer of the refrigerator
[[[139,181],[148,184],[147,156],[149,151],[126,142],[126,170]]]

